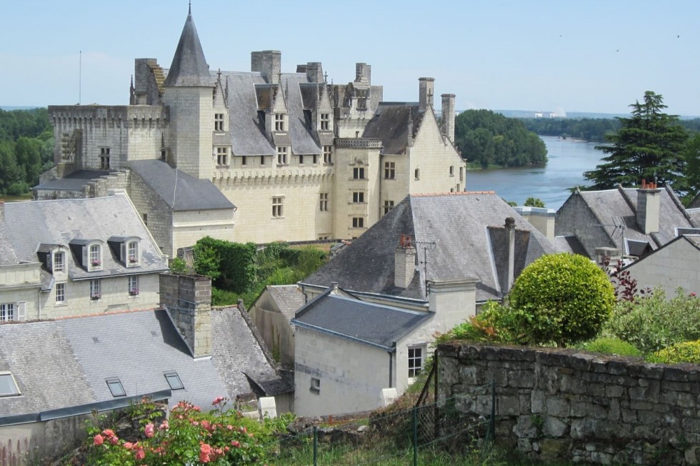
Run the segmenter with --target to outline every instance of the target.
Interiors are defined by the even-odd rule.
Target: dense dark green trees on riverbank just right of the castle
[[[490,110],[467,110],[455,118],[455,143],[462,156],[483,168],[546,163],[544,142],[522,121]]]

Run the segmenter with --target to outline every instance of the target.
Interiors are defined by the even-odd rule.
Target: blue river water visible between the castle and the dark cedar
[[[559,209],[571,194],[569,188],[585,185],[584,171],[596,168],[604,154],[595,149],[599,143],[540,137],[547,146],[546,166],[468,171],[466,189],[496,191],[519,206],[526,198],[540,198],[547,208]]]

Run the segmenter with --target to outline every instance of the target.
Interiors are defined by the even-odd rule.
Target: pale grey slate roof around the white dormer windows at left
[[[105,198],[61,199],[6,203],[4,221],[0,221],[0,265],[39,262],[37,250],[43,244],[69,244],[85,240],[103,243],[101,271],[88,272],[81,258],[66,257],[69,278],[101,278],[133,273],[159,273],[168,270],[159,248],[123,194]],[[107,247],[111,236],[141,238],[139,266],[126,268]]]

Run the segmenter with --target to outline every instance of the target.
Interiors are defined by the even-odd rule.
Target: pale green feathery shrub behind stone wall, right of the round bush
[[[700,340],[700,300],[694,293],[686,295],[680,289],[667,300],[666,293],[657,289],[634,302],[619,301],[604,333],[634,345],[644,354]]]

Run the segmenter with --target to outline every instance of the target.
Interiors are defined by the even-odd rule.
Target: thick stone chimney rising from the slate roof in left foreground
[[[168,310],[192,356],[211,356],[211,278],[171,273],[159,276],[161,305]]]

